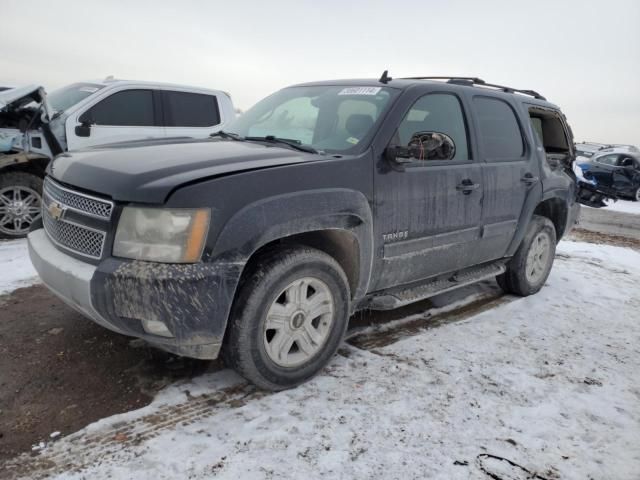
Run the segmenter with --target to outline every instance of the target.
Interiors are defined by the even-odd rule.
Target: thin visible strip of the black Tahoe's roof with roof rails
[[[557,105],[547,101],[543,96],[534,92],[533,90],[521,90],[512,87],[505,87],[503,85],[495,85],[484,82],[479,78],[471,77],[413,77],[413,78],[394,78],[382,81],[384,79],[344,79],[344,80],[325,80],[320,82],[307,82],[298,85],[296,87],[310,87],[314,85],[353,85],[362,87],[388,87],[395,88],[397,90],[405,90],[415,85],[431,84],[439,87],[445,87],[446,90],[456,91],[460,89],[474,88],[481,93],[489,92],[502,96],[515,96],[519,100],[526,101],[541,107],[549,107],[558,109]]]

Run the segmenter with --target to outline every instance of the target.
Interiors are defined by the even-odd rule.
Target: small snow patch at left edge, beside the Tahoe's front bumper
[[[26,239],[0,240],[0,295],[38,282],[31,265]]]

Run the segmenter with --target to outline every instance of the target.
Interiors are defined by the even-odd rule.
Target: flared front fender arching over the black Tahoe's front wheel
[[[373,222],[369,203],[358,191],[313,190],[250,204],[227,222],[208,261],[244,263],[244,276],[265,250],[292,244],[333,257],[347,275],[352,298],[365,295],[372,269]]]

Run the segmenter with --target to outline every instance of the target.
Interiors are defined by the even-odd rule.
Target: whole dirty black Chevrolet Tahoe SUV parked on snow
[[[29,234],[95,322],[260,387],[322,369],[349,316],[495,277],[544,285],[579,201],[558,107],[477,78],[308,83],[207,140],[58,156]]]

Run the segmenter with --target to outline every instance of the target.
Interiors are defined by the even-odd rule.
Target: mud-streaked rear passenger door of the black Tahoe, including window
[[[485,262],[506,254],[525,200],[539,187],[539,167],[514,104],[484,94],[472,95],[471,104],[484,185],[482,239],[475,260]]]

